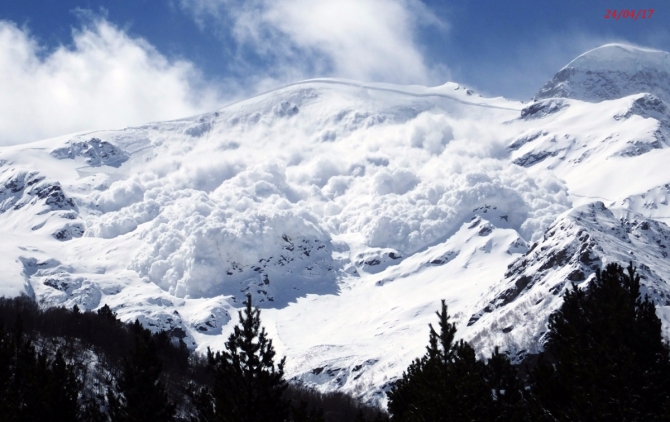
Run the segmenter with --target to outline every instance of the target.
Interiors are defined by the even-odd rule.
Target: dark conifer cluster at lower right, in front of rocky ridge
[[[544,352],[520,367],[498,350],[477,359],[454,340],[444,301],[437,315],[426,354],[388,393],[392,421],[670,420],[670,348],[632,264],[573,285]]]

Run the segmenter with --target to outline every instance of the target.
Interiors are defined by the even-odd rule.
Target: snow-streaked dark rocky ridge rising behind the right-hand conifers
[[[510,347],[513,354],[537,352],[549,315],[566,289],[584,288],[609,262],[632,262],[642,292],[659,306],[670,305],[670,284],[658,274],[670,270],[670,227],[602,202],[578,207],[559,218],[541,240],[513,262],[502,282],[480,302],[468,321],[477,347]],[[480,349],[480,350],[481,350]]]

